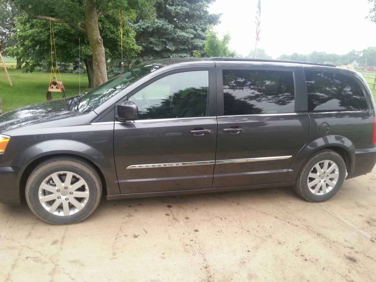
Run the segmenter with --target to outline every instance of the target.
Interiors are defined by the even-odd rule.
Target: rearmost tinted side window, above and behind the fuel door
[[[350,75],[305,70],[308,111],[361,111],[368,109],[364,91]]]

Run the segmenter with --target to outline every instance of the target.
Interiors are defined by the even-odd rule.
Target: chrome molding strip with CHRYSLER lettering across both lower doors
[[[290,159],[292,156],[277,156],[277,157],[262,157],[262,158],[247,158],[247,159],[224,159],[219,161],[198,161],[198,162],[169,162],[165,164],[140,164],[129,165],[127,169],[134,168],[158,168],[158,167],[185,167],[188,165],[209,165],[209,164],[236,164],[241,162],[262,162],[262,161],[276,161],[282,159]]]

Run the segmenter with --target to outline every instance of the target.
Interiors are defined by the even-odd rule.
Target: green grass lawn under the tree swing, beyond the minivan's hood
[[[21,70],[14,69],[9,69],[8,72],[13,87],[9,85],[4,69],[0,69],[0,98],[3,99],[3,112],[46,100],[50,80],[49,73],[23,73]],[[62,73],[61,77],[67,97],[78,95],[79,75]],[[81,93],[88,90],[88,78],[86,74],[81,74]],[[52,92],[52,96],[53,99],[59,99],[61,93]]]

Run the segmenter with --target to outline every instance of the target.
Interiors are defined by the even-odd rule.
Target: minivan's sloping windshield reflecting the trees
[[[150,63],[136,65],[130,70],[115,76],[89,93],[83,95],[80,99],[78,110],[85,113],[94,110],[128,85],[161,67],[163,67],[163,65]]]

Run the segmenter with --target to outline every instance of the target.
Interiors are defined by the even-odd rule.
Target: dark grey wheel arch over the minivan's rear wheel
[[[338,153],[346,164],[347,172],[349,174],[352,173],[355,167],[354,144],[350,139],[344,136],[327,135],[311,141],[299,150],[290,165],[290,172],[285,181],[295,181],[305,162],[311,158],[312,155],[324,149],[333,150]]]

